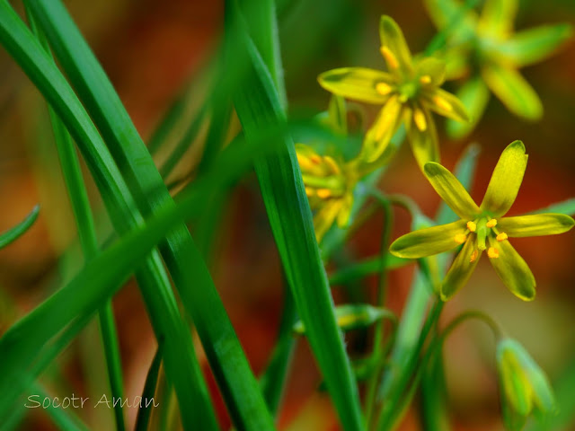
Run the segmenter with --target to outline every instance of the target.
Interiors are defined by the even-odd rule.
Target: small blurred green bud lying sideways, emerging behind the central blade
[[[356,330],[367,328],[382,319],[397,320],[393,312],[385,308],[374,307],[368,303],[354,303],[335,307],[335,315],[341,330]],[[296,321],[294,331],[305,334],[303,321]]]

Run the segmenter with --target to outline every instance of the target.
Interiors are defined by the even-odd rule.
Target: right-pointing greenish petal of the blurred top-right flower
[[[523,67],[551,56],[572,34],[571,24],[535,27],[518,31],[509,40],[503,41],[497,51],[513,65]]]

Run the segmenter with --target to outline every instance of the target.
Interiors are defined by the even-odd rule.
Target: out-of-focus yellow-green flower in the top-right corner
[[[465,10],[456,0],[426,0],[429,14],[440,31],[447,32],[447,79],[472,76],[457,92],[473,118],[472,123],[447,122],[450,136],[461,137],[482,118],[490,91],[509,111],[528,120],[540,119],[543,104],[519,73],[523,66],[549,57],[571,38],[570,24],[513,31],[517,0],[486,0],[481,14]]]

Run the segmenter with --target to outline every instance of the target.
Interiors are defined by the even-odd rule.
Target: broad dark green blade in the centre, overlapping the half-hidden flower
[[[236,9],[234,18],[242,19]],[[237,23],[236,23],[237,25]],[[228,28],[231,40],[243,43],[249,79],[234,95],[235,109],[248,140],[261,128],[285,119],[267,67],[243,27]],[[296,151],[290,136],[276,137],[279,151],[256,160],[255,168],[272,232],[307,337],[323,372],[344,429],[362,429],[358,389],[335,321],[332,296],[315,241],[312,214],[305,196]]]

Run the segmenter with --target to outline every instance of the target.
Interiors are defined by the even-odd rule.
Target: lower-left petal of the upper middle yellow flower
[[[394,95],[379,111],[374,125],[367,130],[361,147],[360,156],[367,163],[375,162],[389,147],[389,142],[402,119],[402,108],[403,105],[398,96]]]

